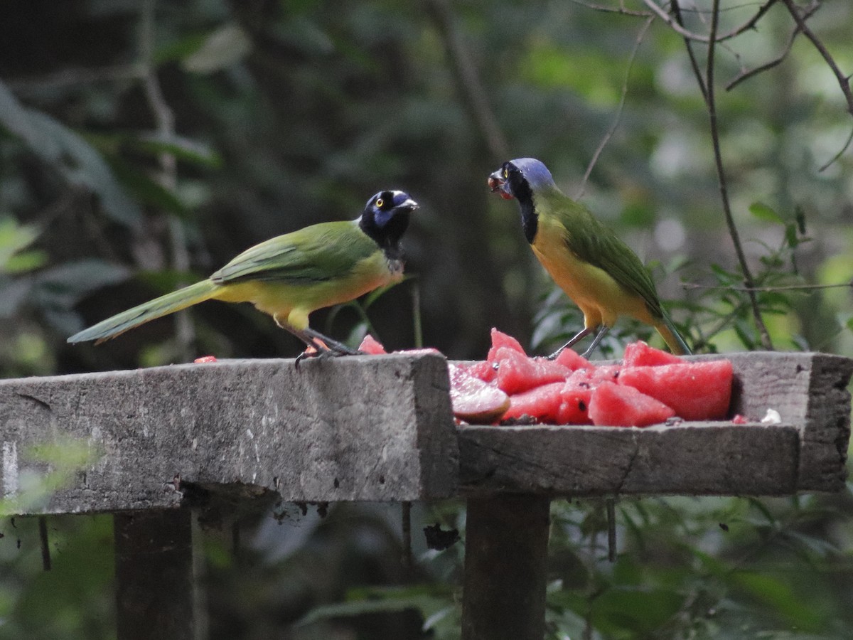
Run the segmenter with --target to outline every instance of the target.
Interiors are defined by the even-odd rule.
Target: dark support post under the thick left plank
[[[189,509],[113,515],[117,637],[194,640]]]

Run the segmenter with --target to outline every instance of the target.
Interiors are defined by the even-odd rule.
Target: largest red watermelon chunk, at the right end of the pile
[[[684,420],[721,420],[728,412],[733,375],[728,360],[711,360],[625,367],[618,381],[669,405]]]

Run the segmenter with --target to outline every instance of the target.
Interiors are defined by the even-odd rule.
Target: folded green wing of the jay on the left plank
[[[251,247],[211,276],[217,284],[247,280],[307,284],[349,274],[379,251],[355,222],[327,222]]]

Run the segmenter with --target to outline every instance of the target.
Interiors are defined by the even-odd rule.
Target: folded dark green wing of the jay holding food
[[[566,245],[578,258],[606,271],[613,280],[639,295],[653,317],[663,316],[652,276],[624,241],[587,207],[566,195],[552,195],[548,205],[566,228]]]

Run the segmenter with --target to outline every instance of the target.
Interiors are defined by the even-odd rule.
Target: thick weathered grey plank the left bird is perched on
[[[403,501],[456,490],[457,445],[437,355],[232,360],[0,381],[3,492],[31,445],[72,437],[96,463],[47,513],[173,506],[179,474],[286,501]],[[171,490],[170,490],[171,489]],[[250,490],[250,493],[252,491]]]

